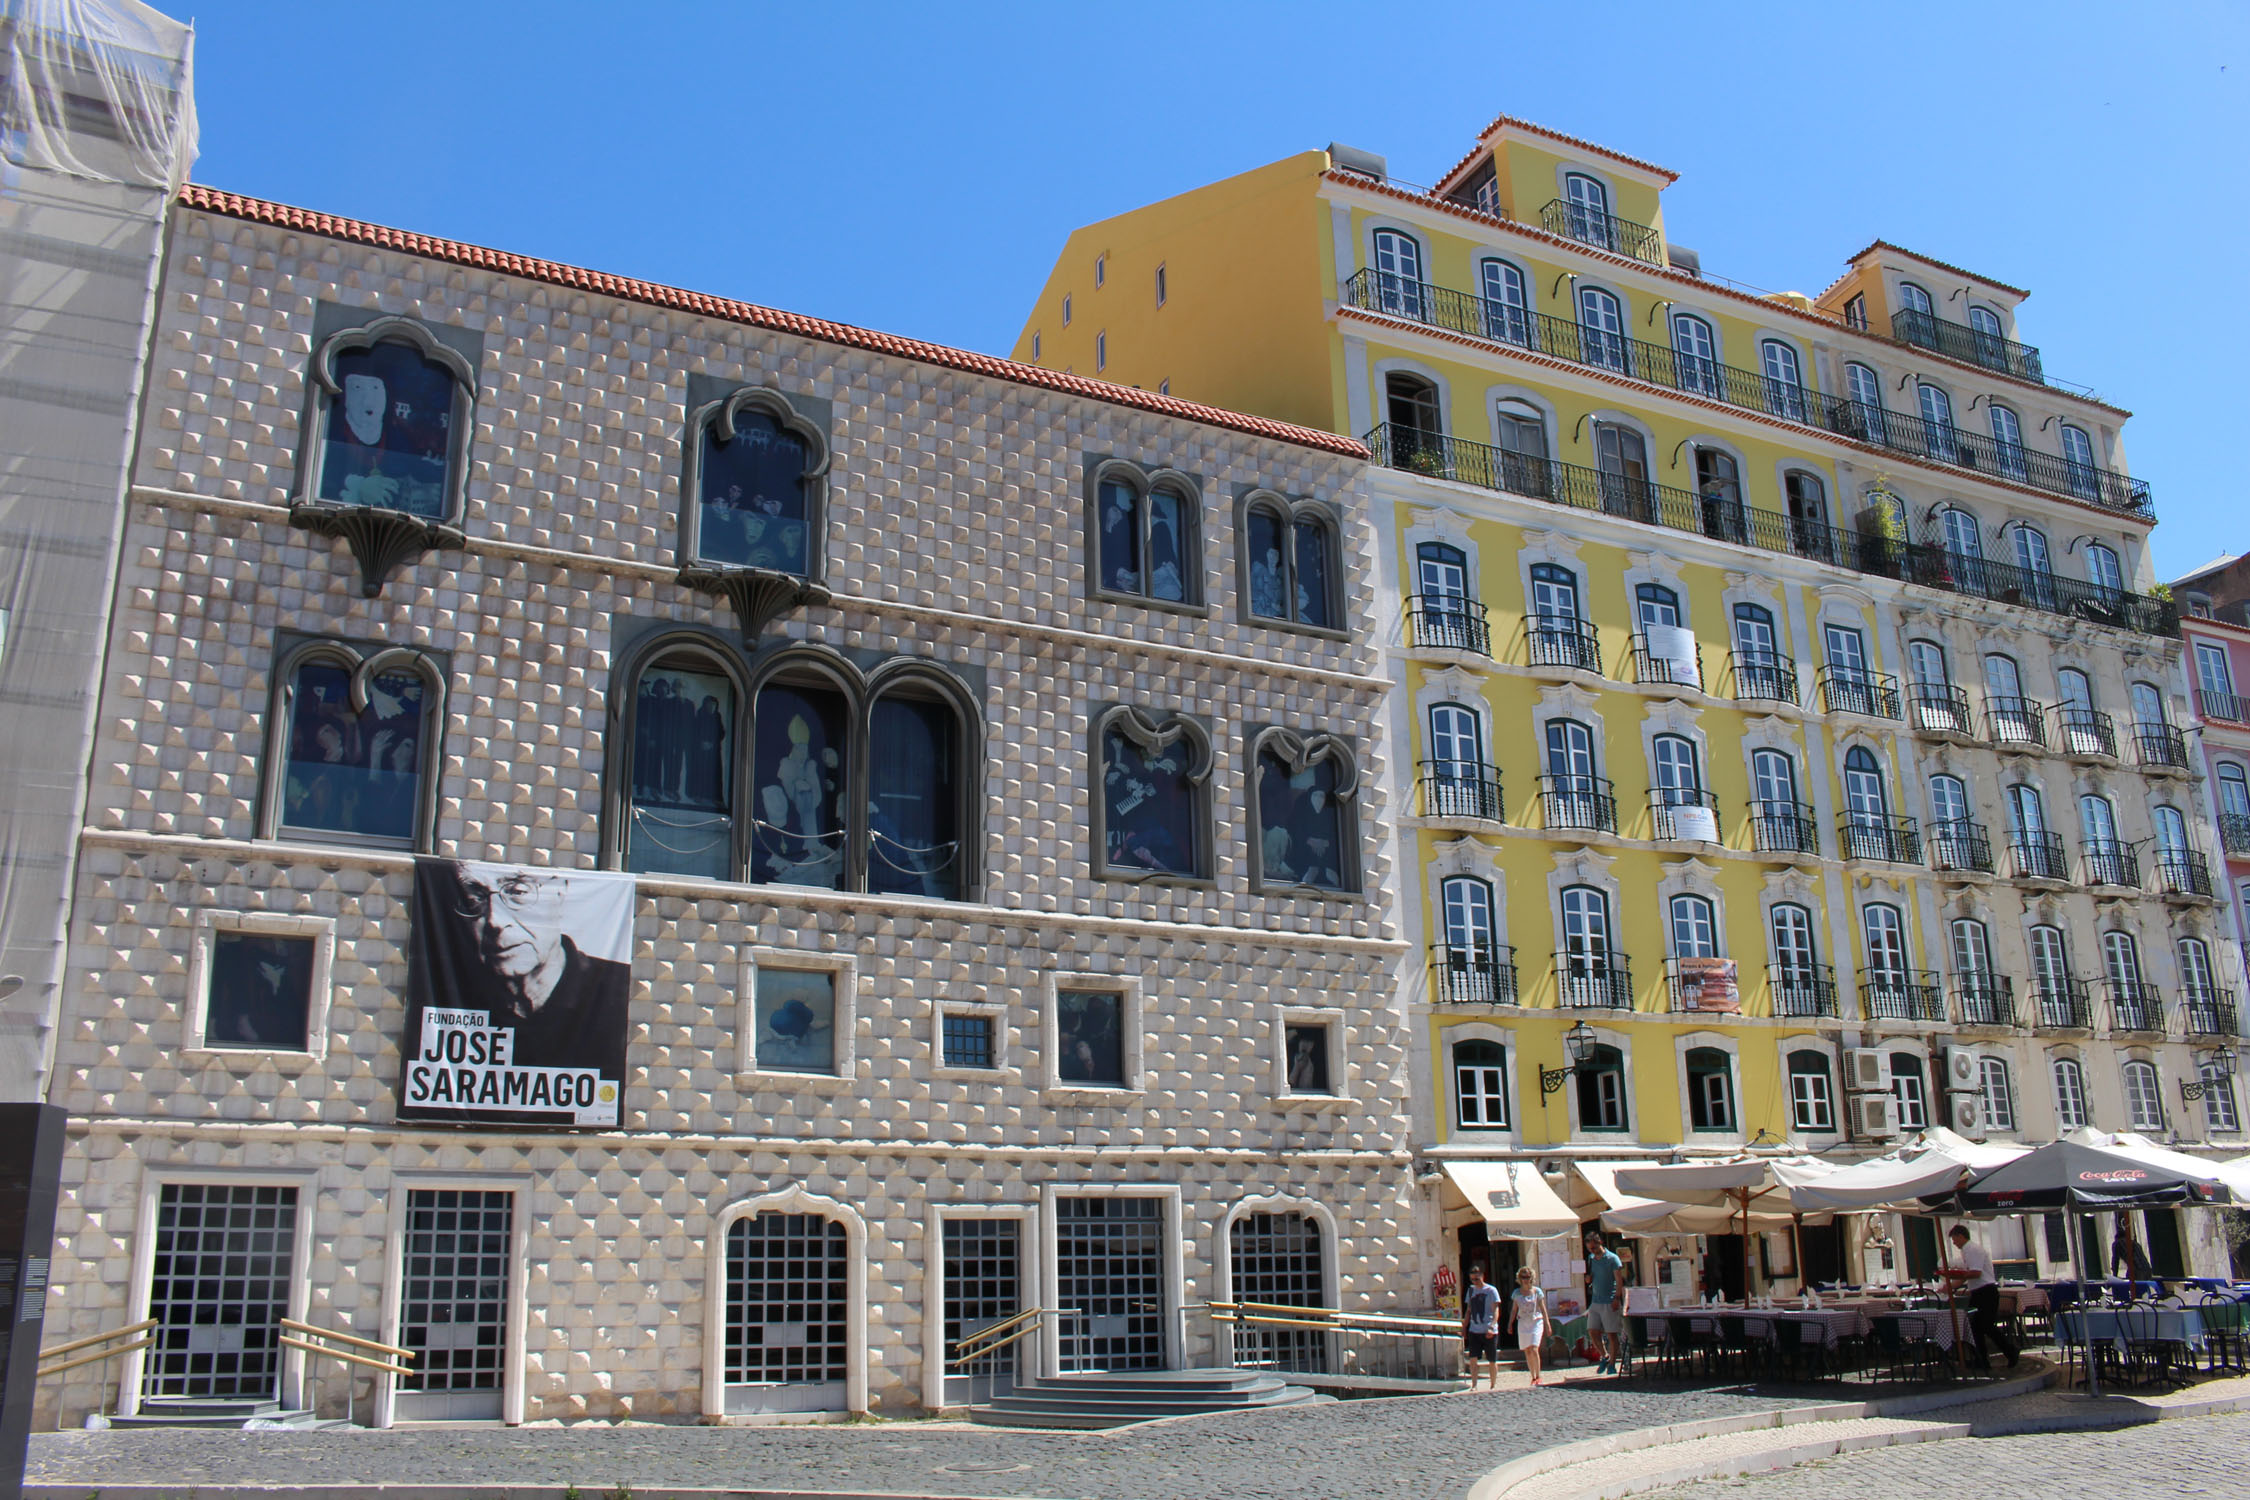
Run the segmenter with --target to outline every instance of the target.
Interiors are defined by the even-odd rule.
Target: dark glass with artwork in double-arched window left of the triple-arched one
[[[367,688],[360,711],[346,666],[320,659],[297,668],[284,828],[414,841],[428,684],[416,672],[378,672]]]

